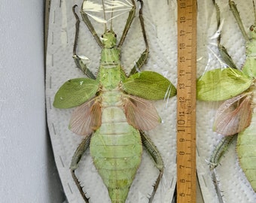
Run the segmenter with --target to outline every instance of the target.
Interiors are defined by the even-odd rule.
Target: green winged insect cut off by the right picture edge
[[[239,165],[244,171],[252,189],[256,192],[256,15],[246,34],[233,1],[230,9],[246,41],[246,61],[241,69],[236,68],[227,50],[218,45],[227,68],[207,71],[197,81],[197,98],[203,101],[226,100],[217,110],[213,130],[229,137],[221,140],[211,158],[210,168],[218,165],[228,145],[237,137],[237,155]],[[215,5],[218,11],[218,6]]]

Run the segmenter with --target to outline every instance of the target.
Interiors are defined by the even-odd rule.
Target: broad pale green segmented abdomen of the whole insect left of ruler
[[[126,122],[123,110],[108,107],[102,126],[90,141],[90,154],[112,203],[124,203],[142,156],[139,131]]]

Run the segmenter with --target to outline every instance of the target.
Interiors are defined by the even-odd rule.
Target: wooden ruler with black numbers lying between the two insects
[[[197,0],[177,6],[177,202],[196,203]]]

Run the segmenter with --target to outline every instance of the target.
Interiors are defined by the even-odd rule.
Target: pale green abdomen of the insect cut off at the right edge
[[[256,109],[253,111],[250,126],[238,135],[236,149],[242,171],[256,192]]]

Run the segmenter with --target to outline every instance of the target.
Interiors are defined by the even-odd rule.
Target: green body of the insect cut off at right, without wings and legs
[[[251,26],[250,31],[250,40],[246,46],[247,59],[242,71],[252,80],[251,87],[248,89],[251,92],[251,106],[248,107],[251,111],[247,111],[248,115],[251,114],[251,123],[244,131],[239,132],[236,150],[242,171],[256,192],[256,108],[254,108],[256,104],[256,29],[254,25]]]

